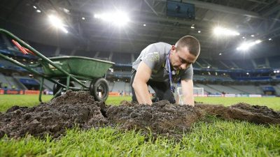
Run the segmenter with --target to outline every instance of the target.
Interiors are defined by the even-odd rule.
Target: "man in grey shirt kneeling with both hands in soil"
[[[193,66],[200,54],[200,42],[193,36],[183,36],[175,45],[153,43],[142,50],[132,63],[132,101],[152,104],[148,85],[158,100],[176,103],[173,84],[181,80],[183,102],[195,105],[193,97]]]

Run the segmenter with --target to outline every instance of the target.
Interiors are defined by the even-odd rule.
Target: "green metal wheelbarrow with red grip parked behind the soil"
[[[77,56],[47,58],[9,31],[0,29],[0,33],[10,36],[13,39],[12,42],[22,53],[38,57],[38,63],[26,65],[0,53],[0,57],[3,59],[15,63],[17,66],[25,68],[34,75],[42,78],[40,82],[39,101],[42,101],[41,95],[44,79],[54,83],[52,89],[54,98],[60,96],[68,89],[73,91],[90,91],[90,95],[97,101],[105,101],[108,98],[109,84],[105,77],[107,70],[113,66],[113,62]],[[43,73],[35,70],[38,67],[43,69]],[[75,87],[75,82],[80,87]]]

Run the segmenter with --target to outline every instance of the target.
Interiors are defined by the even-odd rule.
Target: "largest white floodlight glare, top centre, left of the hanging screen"
[[[127,14],[123,12],[95,14],[94,17],[106,22],[112,22],[118,26],[124,26],[130,21],[130,18],[127,16]]]

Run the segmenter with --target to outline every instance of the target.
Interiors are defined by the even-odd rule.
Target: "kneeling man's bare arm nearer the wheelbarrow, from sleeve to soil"
[[[137,72],[132,83],[135,95],[139,104],[152,104],[150,94],[148,92],[147,82],[151,77],[152,70],[149,68],[144,61],[141,61],[137,68]]]

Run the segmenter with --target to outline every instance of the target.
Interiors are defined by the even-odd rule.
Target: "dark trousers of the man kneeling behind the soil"
[[[132,102],[137,102],[135,91],[132,87],[135,74],[136,74],[136,70],[132,70],[132,76],[130,79],[130,87],[132,88]],[[156,82],[156,81],[148,80],[147,86],[148,85],[150,85],[152,89],[155,91],[155,98],[153,98],[153,100],[169,100],[169,103],[176,103],[174,94],[172,94],[170,90],[169,82]]]

